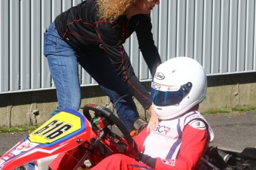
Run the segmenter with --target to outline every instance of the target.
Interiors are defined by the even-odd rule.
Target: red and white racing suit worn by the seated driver
[[[146,129],[134,137],[145,163],[123,154],[113,154],[95,169],[197,169],[197,163],[214,134],[199,112],[162,120],[154,132]]]

